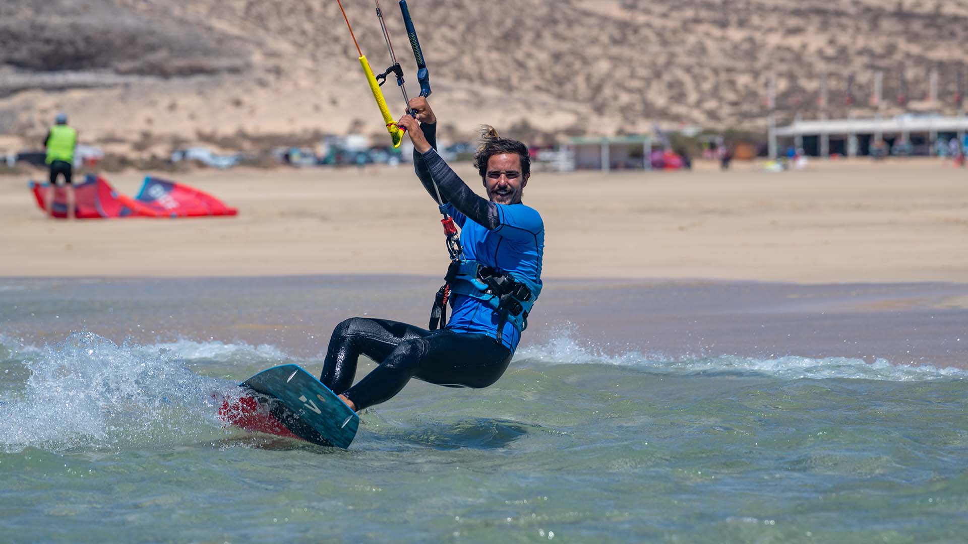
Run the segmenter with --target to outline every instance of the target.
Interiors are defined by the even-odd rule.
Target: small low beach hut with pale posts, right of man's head
[[[576,136],[567,145],[572,169],[651,169],[651,136]]]

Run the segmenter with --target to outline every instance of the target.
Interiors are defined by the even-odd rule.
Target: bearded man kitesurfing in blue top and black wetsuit
[[[427,100],[414,98],[409,107],[415,117],[404,115],[398,124],[413,143],[417,176],[431,196],[439,189],[441,210],[462,227],[463,255],[452,260],[445,286],[453,312],[438,330],[370,317],[337,325],[319,380],[354,410],[389,400],[409,378],[491,385],[507,369],[541,292],[544,223],[521,202],[530,177],[528,147],[489,128],[474,157],[488,196],[482,198],[438,155],[437,117]],[[432,329],[440,310],[435,307]],[[352,385],[360,355],[378,367]]]

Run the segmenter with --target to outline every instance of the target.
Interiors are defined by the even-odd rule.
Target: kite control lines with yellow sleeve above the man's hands
[[[396,121],[394,121],[393,115],[390,113],[390,108],[386,106],[386,99],[383,97],[383,92],[380,90],[380,87],[386,81],[386,77],[392,74],[397,78],[397,85],[400,87],[400,92],[404,95],[404,102],[408,105],[407,107],[409,107],[409,97],[407,87],[404,86],[404,70],[401,68],[400,63],[397,62],[397,55],[393,50],[393,43],[390,41],[390,34],[386,29],[386,22],[383,20],[383,12],[379,6],[379,0],[374,1],[377,5],[377,17],[379,19],[380,29],[383,32],[383,40],[386,42],[386,50],[390,54],[390,62],[393,63],[386,71],[379,75],[374,74],[373,69],[370,67],[370,62],[360,49],[360,45],[356,42],[356,35],[353,33],[353,27],[349,24],[347,12],[343,9],[343,2],[336,0],[336,3],[339,4],[340,12],[343,13],[343,18],[347,21],[349,36],[353,39],[353,45],[356,45],[356,52],[359,53],[360,66],[363,68],[367,82],[370,83],[370,90],[373,92],[373,98],[377,101],[379,112],[383,116],[383,123],[386,125],[386,130],[393,141],[393,147],[396,148],[400,147],[400,143],[403,140],[404,129],[401,129]],[[407,27],[410,47],[413,49],[413,56],[417,62],[417,80],[420,82],[420,96],[428,97],[431,93],[430,75],[423,58],[423,50],[420,48],[420,42],[417,40],[416,30],[413,28],[413,21],[410,18],[407,0],[400,0],[400,11],[404,17],[404,25]],[[414,114],[409,110],[408,113],[411,115]]]

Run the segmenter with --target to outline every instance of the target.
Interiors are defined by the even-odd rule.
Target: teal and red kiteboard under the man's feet
[[[299,365],[273,367],[239,385],[249,394],[219,408],[227,424],[344,449],[356,436],[356,412]]]

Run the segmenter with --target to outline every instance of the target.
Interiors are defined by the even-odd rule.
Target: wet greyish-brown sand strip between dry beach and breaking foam
[[[77,331],[116,343],[241,342],[321,356],[352,316],[425,325],[436,278],[0,279],[0,336],[29,345]],[[562,359],[846,357],[968,369],[962,284],[548,280],[522,348]],[[560,352],[561,351],[561,352]]]

